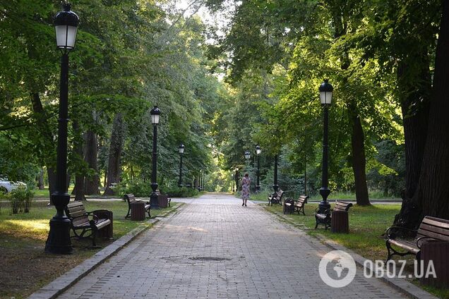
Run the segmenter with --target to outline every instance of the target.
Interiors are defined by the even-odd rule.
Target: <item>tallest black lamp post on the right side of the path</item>
[[[320,212],[324,212],[325,209],[330,209],[328,203],[328,196],[330,190],[328,188],[328,127],[329,116],[328,109],[332,102],[333,86],[329,84],[328,80],[324,80],[318,88],[320,91],[321,105],[323,106],[323,176],[321,180],[320,194],[323,197],[323,201],[318,205]]]

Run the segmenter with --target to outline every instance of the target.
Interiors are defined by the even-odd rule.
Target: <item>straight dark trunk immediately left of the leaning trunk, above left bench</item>
[[[84,159],[88,163],[89,168],[95,171],[95,175],[86,176],[84,182],[84,192],[87,195],[98,195],[100,194],[100,177],[98,176],[97,167],[97,135],[92,131],[85,133],[85,152]]]

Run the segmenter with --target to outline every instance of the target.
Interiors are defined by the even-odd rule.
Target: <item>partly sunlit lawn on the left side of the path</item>
[[[90,240],[72,239],[72,255],[52,255],[44,252],[49,232],[49,219],[56,214],[47,202],[33,202],[30,213],[10,214],[8,202],[0,202],[0,298],[26,298],[57,276],[94,255],[99,249],[88,246]],[[152,210],[155,217],[167,209]],[[87,211],[108,209],[114,213],[114,240],[137,226],[150,226],[146,221],[124,219],[126,202],[85,202]],[[98,240],[103,248],[113,240]]]

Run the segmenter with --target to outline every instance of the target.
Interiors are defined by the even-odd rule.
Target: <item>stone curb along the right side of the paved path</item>
[[[265,209],[265,208],[263,208],[263,209],[266,212],[269,212],[269,211],[267,211],[267,209]],[[271,213],[271,212],[269,212],[269,213],[275,214],[275,213]],[[286,216],[284,216],[284,214],[275,214],[275,215],[279,216],[282,220],[286,221],[289,225],[294,226],[295,228],[298,228],[301,231],[304,231],[304,227],[301,227],[298,224],[294,224],[294,222],[291,221],[290,219],[288,219]],[[304,233],[306,233],[306,231],[304,231]],[[356,252],[349,250],[348,248],[345,248],[345,246],[342,246],[333,240],[329,240],[328,238],[325,238],[325,236],[323,236],[323,235],[311,236],[309,234],[306,234],[306,236],[308,238],[314,238],[314,239],[319,240],[321,243],[323,243],[324,245],[327,245],[329,248],[331,248],[333,250],[343,250],[343,251],[349,253],[349,255],[351,255],[352,258],[354,258],[354,261],[356,262],[356,264],[358,264],[360,267],[364,267],[364,263],[367,259],[365,257],[362,257],[361,255],[357,254]],[[373,269],[371,269],[371,270],[374,271]],[[422,288],[415,286],[413,283],[411,283],[405,279],[388,278],[388,276],[385,276],[385,275],[382,277],[376,277],[376,279],[380,279],[384,283],[387,283],[389,286],[395,288],[397,291],[401,291],[402,293],[407,295],[407,297],[412,298],[412,299],[438,299],[438,297],[432,295],[431,293],[424,291]]]

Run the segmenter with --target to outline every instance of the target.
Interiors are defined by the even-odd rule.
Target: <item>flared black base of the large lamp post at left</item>
[[[54,216],[50,220],[50,231],[47,242],[45,242],[45,252],[56,255],[70,255],[73,253],[70,239],[70,219],[66,216]]]

